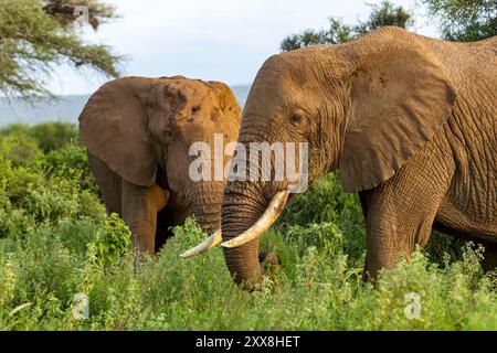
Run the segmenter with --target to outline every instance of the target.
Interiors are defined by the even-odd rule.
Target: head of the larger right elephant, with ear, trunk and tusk
[[[269,57],[248,94],[239,142],[307,142],[309,182],[339,169],[347,191],[370,190],[431,139],[454,99],[423,39],[385,28]],[[261,281],[258,239],[282,212],[288,186],[285,179],[226,184],[222,237],[237,284]]]

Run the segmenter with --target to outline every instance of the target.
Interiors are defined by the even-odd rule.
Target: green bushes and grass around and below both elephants
[[[30,129],[0,143],[0,330],[497,330],[497,276],[474,246],[441,237],[434,255],[419,249],[363,282],[361,208],[337,174],[294,197],[263,237],[281,266],[257,292],[233,284],[221,248],[179,258],[205,237],[191,218],[137,266],[127,226],[74,178],[83,150],[10,159],[3,139]],[[87,320],[73,318],[80,292]],[[419,318],[405,315],[410,293]]]

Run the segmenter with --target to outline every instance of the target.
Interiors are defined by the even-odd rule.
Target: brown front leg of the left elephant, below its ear
[[[123,220],[131,231],[138,254],[155,254],[157,213],[168,202],[169,193],[157,184],[138,186],[123,180]]]

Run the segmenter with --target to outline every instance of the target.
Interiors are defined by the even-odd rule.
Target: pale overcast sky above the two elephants
[[[328,17],[343,23],[366,20],[364,4],[379,0],[104,0],[117,7],[120,19],[97,32],[84,30],[93,43],[126,55],[125,75],[218,79],[250,84],[264,60],[279,51],[282,40],[304,29],[327,28]],[[415,0],[393,0],[412,10],[414,31],[437,36]],[[56,94],[87,94],[105,78],[56,69],[50,87]]]

